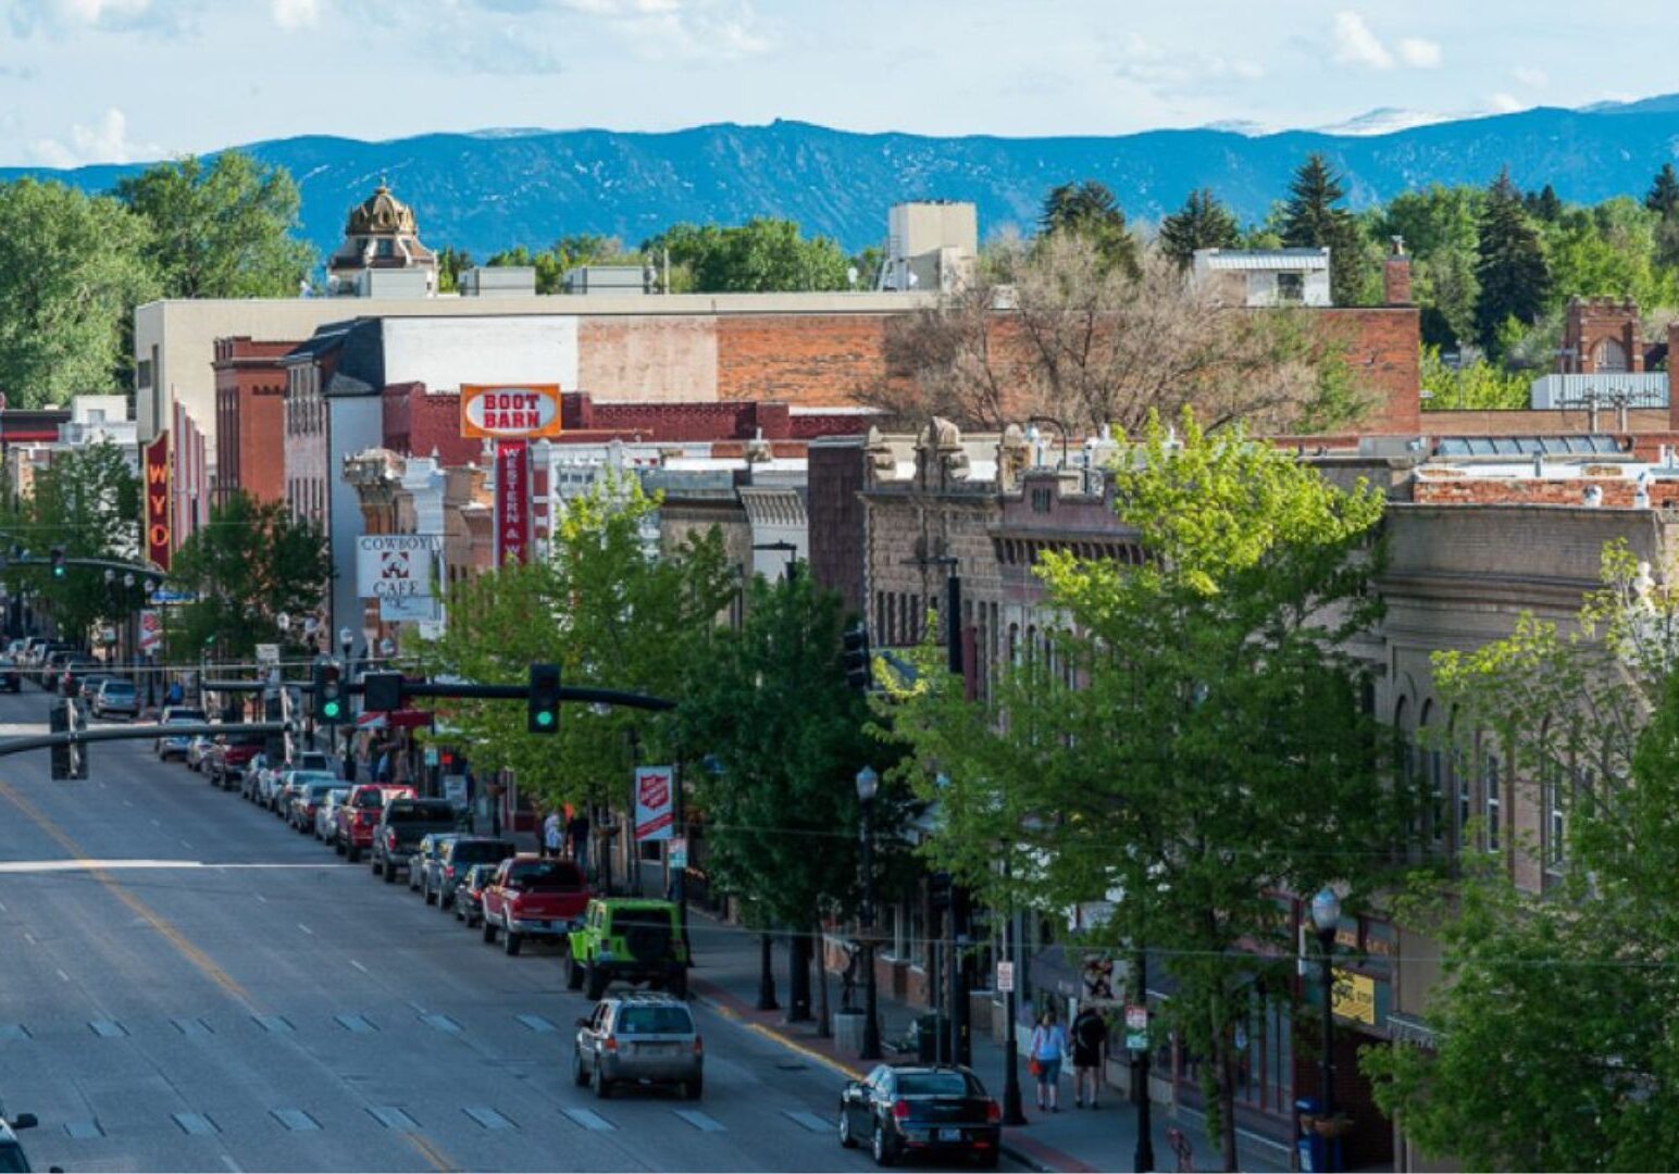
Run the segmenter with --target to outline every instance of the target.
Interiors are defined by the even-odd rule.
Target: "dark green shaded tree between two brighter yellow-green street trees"
[[[866,731],[868,705],[846,685],[840,598],[809,576],[747,588],[745,623],[693,660],[682,694],[690,757],[705,820],[707,867],[722,892],[767,920],[809,930],[855,909],[861,811],[855,778],[897,752]],[[890,868],[902,788],[875,799],[876,870]],[[881,897],[885,890],[880,888]]]

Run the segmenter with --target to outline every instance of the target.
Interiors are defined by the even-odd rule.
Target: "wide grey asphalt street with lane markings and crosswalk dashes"
[[[149,742],[91,754],[82,783],[0,759],[0,1103],[40,1117],[37,1169],[870,1166],[838,1075],[704,1006],[704,1102],[594,1100],[552,951],[505,957]]]

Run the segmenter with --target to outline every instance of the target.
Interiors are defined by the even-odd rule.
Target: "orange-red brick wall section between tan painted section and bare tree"
[[[848,406],[885,369],[885,314],[719,317],[717,398]]]

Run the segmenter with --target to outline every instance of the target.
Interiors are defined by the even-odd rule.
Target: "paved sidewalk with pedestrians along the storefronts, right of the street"
[[[695,964],[688,988],[697,999],[710,1003],[749,1030],[777,1038],[786,1046],[826,1065],[834,1072],[836,1092],[840,1078],[865,1075],[870,1065],[850,1053],[841,1055],[833,1040],[823,1040],[816,1035],[814,1023],[789,1025],[782,1019],[784,1009],[756,1009],[761,959],[757,934],[722,924],[698,910],[693,910],[690,919]],[[787,949],[781,939],[776,942],[776,998],[786,1008]],[[840,979],[836,976],[828,979],[828,998],[831,1008],[840,1006]],[[811,1009],[814,1011],[818,1006],[813,972]],[[881,1041],[905,1038],[915,1013],[907,1004],[887,998],[880,998],[878,1006]],[[974,1073],[986,1082],[986,1090],[1001,1102],[1004,1050],[992,1043],[989,1035],[975,1036],[972,1050]],[[892,1050],[887,1048],[887,1060],[893,1058]],[[1044,1114],[1036,1107],[1038,1087],[1026,1072],[1024,1056],[1019,1060],[1019,1078],[1028,1124],[1004,1130],[1004,1154],[1038,1171],[1132,1169],[1132,1152],[1137,1145],[1137,1110],[1125,1100],[1123,1093],[1103,1090],[1100,1108],[1075,1108],[1073,1078],[1071,1073],[1063,1073],[1061,1112]],[[1174,1120],[1170,1107],[1157,1103],[1152,1130],[1157,1171],[1177,1167],[1177,1157],[1167,1140],[1167,1130],[1174,1125],[1189,1139],[1195,1169],[1219,1169],[1217,1150],[1207,1140],[1200,1115],[1182,1112]],[[1239,1156],[1244,1171],[1279,1171],[1286,1164],[1281,1150],[1247,1140],[1239,1145]]]

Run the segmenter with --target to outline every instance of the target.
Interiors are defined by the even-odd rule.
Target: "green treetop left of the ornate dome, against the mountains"
[[[165,297],[296,297],[314,267],[285,168],[242,151],[188,155],[121,180],[116,197],[151,227]]]

